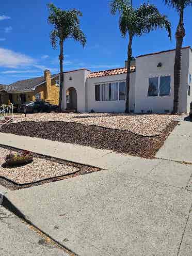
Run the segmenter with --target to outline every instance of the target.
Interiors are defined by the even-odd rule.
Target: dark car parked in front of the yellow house
[[[57,105],[52,105],[49,102],[37,100],[31,101],[29,103],[24,103],[18,107],[19,113],[24,113],[26,108],[26,113],[39,113],[39,112],[47,112],[58,111]]]

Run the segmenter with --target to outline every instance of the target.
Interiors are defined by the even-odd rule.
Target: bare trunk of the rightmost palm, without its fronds
[[[182,59],[182,44],[185,37],[185,28],[183,24],[183,11],[180,12],[180,20],[175,34],[176,49],[174,59],[174,101],[173,101],[173,114],[179,112],[179,88],[181,86],[181,59]]]

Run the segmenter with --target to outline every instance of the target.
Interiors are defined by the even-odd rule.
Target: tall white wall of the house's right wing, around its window
[[[182,77],[180,88],[180,112],[187,111],[187,81],[189,70],[189,48],[182,50]],[[136,82],[135,82],[135,112],[141,110],[147,112],[152,110],[154,113],[164,113],[173,109],[174,98],[174,57],[175,51],[164,52],[141,56],[136,58]],[[157,68],[158,63],[162,63],[161,68]],[[159,75],[171,76],[171,92],[169,96],[148,97],[149,77]]]

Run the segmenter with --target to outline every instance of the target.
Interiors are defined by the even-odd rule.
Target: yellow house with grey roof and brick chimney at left
[[[45,70],[44,76],[0,85],[0,104],[23,104],[37,99],[58,105],[59,74],[51,75],[50,70]]]

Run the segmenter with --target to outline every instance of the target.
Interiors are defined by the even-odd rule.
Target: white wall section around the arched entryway
[[[77,111],[86,111],[86,77],[90,73],[88,70],[75,70],[64,73],[64,82],[62,90],[62,109],[67,108],[66,91],[70,87],[74,87],[77,92]],[[72,77],[72,80],[69,78]]]

